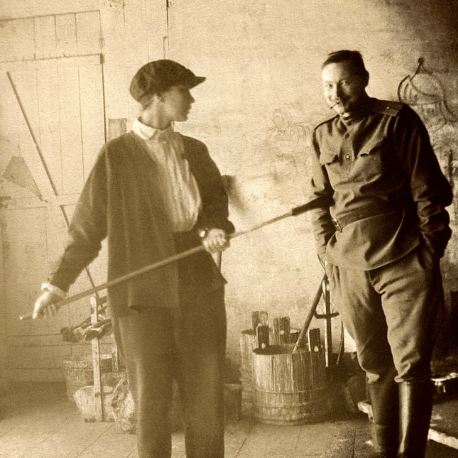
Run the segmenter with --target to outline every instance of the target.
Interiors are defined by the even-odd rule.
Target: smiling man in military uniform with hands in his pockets
[[[375,456],[424,457],[452,190],[415,111],[368,96],[359,52],[329,54],[322,82],[334,116],[312,138],[318,256],[366,371]]]

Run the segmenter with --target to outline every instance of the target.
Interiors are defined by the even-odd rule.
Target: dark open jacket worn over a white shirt
[[[135,133],[109,141],[84,185],[69,227],[65,252],[50,276],[62,290],[75,282],[108,242],[108,280],[119,278],[200,244],[199,228],[218,227],[229,234],[227,195],[217,166],[204,143],[183,136],[185,156],[202,197],[195,230],[173,234],[156,182],[156,165]],[[179,246],[178,246],[179,245]],[[211,290],[224,284],[212,256],[202,251],[178,263],[144,273],[109,288],[111,309],[177,307],[179,280]]]

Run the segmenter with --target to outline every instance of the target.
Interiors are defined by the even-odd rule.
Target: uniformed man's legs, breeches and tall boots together
[[[430,361],[444,310],[439,262],[418,247],[388,266],[371,271],[328,266],[327,274],[366,371],[376,451],[386,458],[424,457],[432,408]]]

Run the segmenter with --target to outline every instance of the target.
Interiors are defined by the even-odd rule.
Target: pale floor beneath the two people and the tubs
[[[454,410],[456,411],[456,410]],[[136,458],[135,436],[114,422],[84,422],[65,384],[23,383],[0,396],[0,458]],[[367,415],[354,413],[312,425],[263,425],[243,416],[227,423],[227,458],[365,458],[371,452]],[[182,432],[173,458],[185,457]],[[428,443],[427,458],[458,452]]]

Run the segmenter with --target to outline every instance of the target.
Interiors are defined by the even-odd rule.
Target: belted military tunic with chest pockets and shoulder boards
[[[315,128],[312,200],[319,256],[338,266],[377,268],[420,244],[439,258],[451,235],[451,187],[419,116],[397,102],[368,97]]]

